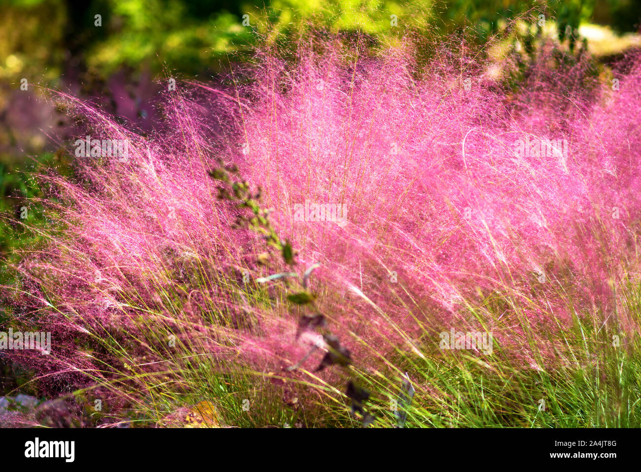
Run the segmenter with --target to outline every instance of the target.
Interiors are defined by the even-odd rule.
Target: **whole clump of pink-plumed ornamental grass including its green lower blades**
[[[128,156],[41,176],[10,355],[102,423],[638,426],[641,70],[559,51],[257,56],[146,137],[58,94]]]

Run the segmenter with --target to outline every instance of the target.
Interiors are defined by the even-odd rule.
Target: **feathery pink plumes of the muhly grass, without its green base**
[[[506,90],[472,58],[462,73],[455,54],[419,67],[409,47],[356,60],[303,49],[294,65],[263,58],[234,87],[170,92],[149,137],[60,94],[86,134],[129,140],[129,158],[76,158],[77,178],[44,176],[58,226],[18,267],[16,312],[51,330],[57,352],[31,366],[102,377],[107,361],[74,337],[135,337],[140,318],[258,371],[303,357],[304,308],[281,282],[257,288],[283,267],[256,264],[262,240],[233,227],[238,210],[208,175],[216,158],[262,187],[301,273],[321,263],[317,304],[361,366],[425,357],[451,327],[493,332],[523,367],[553,363],[551,336],[575,316],[638,330],[614,289],[637,270],[641,70],[613,91],[588,82],[585,61],[547,71],[541,51],[524,87]],[[566,140],[567,156],[515,155],[526,137]],[[345,205],[347,223],[295,221],[306,201]],[[149,355],[135,344],[132,360]]]

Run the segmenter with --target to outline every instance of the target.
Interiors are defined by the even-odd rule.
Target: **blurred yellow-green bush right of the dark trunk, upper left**
[[[146,65],[154,72],[164,67],[193,75],[205,67],[217,70],[228,54],[247,51],[254,31],[242,26],[240,12],[231,5],[212,11],[204,1],[107,0],[104,11],[104,39],[92,42],[85,57],[88,67],[109,74],[122,65]],[[250,6],[248,5],[247,10]],[[98,14],[98,13],[96,13]]]

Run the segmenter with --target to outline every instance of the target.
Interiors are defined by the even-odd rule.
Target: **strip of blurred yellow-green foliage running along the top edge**
[[[408,30],[467,26],[482,43],[517,17],[544,14],[563,40],[593,15],[632,31],[640,11],[637,0],[4,0],[0,80],[56,81],[70,65],[101,76],[122,67],[212,73],[257,44],[292,42],[310,28],[359,30],[385,43]]]

